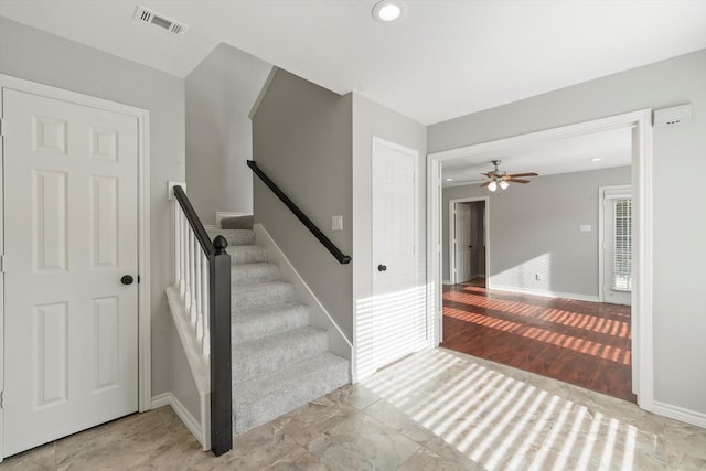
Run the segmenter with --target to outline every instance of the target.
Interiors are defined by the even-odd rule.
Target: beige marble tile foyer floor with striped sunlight
[[[215,458],[169,407],[0,470],[706,470],[706,429],[445,349],[244,433]]]

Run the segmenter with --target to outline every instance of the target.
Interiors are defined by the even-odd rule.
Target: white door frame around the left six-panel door
[[[138,410],[151,408],[152,373],[151,373],[151,338],[150,338],[150,189],[149,189],[149,111],[133,106],[122,105],[50,85],[39,84],[23,78],[0,74],[0,92],[4,88],[46,98],[68,101],[75,105],[98,108],[137,118],[138,132]],[[2,118],[2,93],[0,93],[0,119]],[[0,129],[1,132],[1,129]],[[0,136],[0,143],[2,142]],[[0,147],[0,159],[4,161],[3,147]],[[3,169],[0,168],[0,250],[4,251],[4,181]],[[4,267],[0,269],[0,324],[4,324]],[[0,335],[0,390],[4,392],[4,331]],[[4,410],[0,409],[0,462],[3,456]]]

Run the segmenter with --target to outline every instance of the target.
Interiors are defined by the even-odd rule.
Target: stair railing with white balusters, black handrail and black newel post
[[[174,185],[173,191],[178,203],[174,204],[173,289],[183,307],[181,311],[186,318],[183,320],[189,325],[189,329],[181,329],[189,331],[186,335],[191,336],[186,343],[196,345],[200,361],[210,373],[210,400],[206,405],[210,413],[202,407],[202,424],[210,425],[210,430],[204,429],[202,433],[204,441],[208,433],[211,450],[221,456],[233,448],[228,243],[223,236],[211,242],[184,190]],[[193,368],[191,362],[190,358]],[[210,421],[205,420],[207,417]]]

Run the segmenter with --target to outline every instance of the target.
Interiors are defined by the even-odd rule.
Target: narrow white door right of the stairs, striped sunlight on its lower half
[[[373,140],[373,342],[375,367],[420,347],[426,291],[417,286],[417,152]]]

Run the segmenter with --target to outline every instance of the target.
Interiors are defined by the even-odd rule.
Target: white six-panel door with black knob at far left
[[[7,88],[2,108],[7,457],[138,408],[138,130]]]

